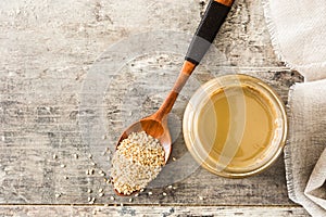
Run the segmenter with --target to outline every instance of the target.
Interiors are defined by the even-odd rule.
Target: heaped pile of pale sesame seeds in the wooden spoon
[[[164,159],[164,150],[158,139],[145,131],[130,133],[112,158],[114,189],[125,195],[140,191],[159,175]]]

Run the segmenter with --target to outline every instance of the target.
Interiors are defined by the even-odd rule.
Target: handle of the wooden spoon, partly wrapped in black
[[[162,120],[168,114],[189,76],[200,63],[224,23],[234,0],[211,0],[188,48],[181,72],[165,101],[154,114]]]

